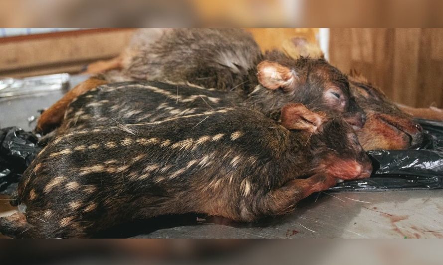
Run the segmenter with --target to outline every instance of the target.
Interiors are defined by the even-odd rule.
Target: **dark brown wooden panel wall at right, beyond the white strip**
[[[443,29],[331,29],[330,61],[396,102],[443,107]]]

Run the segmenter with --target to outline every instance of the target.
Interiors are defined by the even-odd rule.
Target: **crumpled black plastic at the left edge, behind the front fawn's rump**
[[[17,127],[0,129],[0,194],[10,195],[34,160],[40,147],[38,138]]]

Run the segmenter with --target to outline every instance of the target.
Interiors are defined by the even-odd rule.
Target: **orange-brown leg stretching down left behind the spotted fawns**
[[[74,98],[86,93],[93,88],[97,88],[98,86],[107,83],[108,82],[103,79],[92,77],[85,82],[77,85],[75,88],[69,90],[61,99],[59,99],[41,114],[40,118],[37,121],[36,131],[48,133],[59,126],[63,120],[63,116],[65,115],[69,103],[71,103]]]

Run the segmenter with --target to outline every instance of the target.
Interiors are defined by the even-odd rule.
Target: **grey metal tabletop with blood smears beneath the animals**
[[[73,77],[72,85],[86,77]],[[53,91],[0,99],[0,126],[32,129],[26,118],[62,96]],[[197,220],[198,218],[198,220]],[[211,220],[212,219],[212,220]],[[218,224],[212,224],[214,221]],[[250,224],[195,214],[163,216],[111,229],[137,238],[443,238],[443,190],[323,192],[291,214]]]

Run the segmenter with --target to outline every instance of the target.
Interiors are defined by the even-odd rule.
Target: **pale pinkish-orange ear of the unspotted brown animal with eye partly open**
[[[257,65],[258,82],[268,89],[283,88],[285,91],[292,91],[297,81],[297,73],[276,62],[265,60]]]

